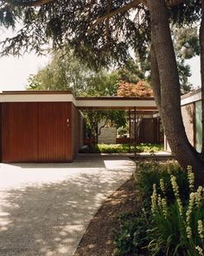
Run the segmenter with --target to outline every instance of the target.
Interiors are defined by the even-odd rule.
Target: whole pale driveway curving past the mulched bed
[[[0,165],[0,255],[72,256],[108,195],[135,170],[127,157]]]

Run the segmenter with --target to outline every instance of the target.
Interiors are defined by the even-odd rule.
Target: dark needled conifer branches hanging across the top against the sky
[[[19,54],[29,50],[41,53],[48,43],[53,42],[55,48],[73,48],[82,61],[99,67],[112,61],[127,61],[130,48],[136,50],[142,59],[150,46],[150,13],[143,4],[138,6],[137,11],[118,12],[112,16],[112,22],[104,19],[94,25],[99,17],[107,13],[109,2],[61,0],[40,7],[32,7],[32,2],[35,3],[2,1],[1,25],[15,26],[19,20],[22,24],[17,35],[4,42],[3,54]],[[111,11],[119,10],[129,2],[112,2]],[[26,3],[31,6],[25,6]],[[198,22],[201,19],[201,3],[186,0],[185,4],[169,9],[169,15],[174,25]],[[141,18],[138,19],[138,16]]]

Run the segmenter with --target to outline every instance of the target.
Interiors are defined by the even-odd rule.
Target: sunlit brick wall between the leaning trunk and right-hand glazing
[[[182,120],[189,143],[194,146],[194,103],[182,106]]]

